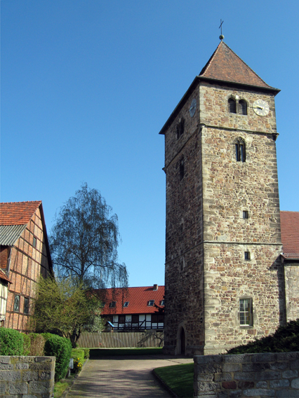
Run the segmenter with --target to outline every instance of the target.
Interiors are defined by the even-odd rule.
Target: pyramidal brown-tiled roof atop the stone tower
[[[204,69],[201,70],[199,76],[220,81],[230,81],[232,83],[272,88],[255,74],[223,41],[220,41],[215,53],[208,60]]]

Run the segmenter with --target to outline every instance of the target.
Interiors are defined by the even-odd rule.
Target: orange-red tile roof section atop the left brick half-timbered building
[[[0,203],[0,225],[25,225],[32,219],[41,200]]]

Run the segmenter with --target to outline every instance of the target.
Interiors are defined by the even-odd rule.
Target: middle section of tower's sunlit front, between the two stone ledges
[[[235,142],[246,144],[237,162]],[[204,240],[281,244],[275,142],[267,135],[202,131]],[[248,211],[248,219],[243,218]]]

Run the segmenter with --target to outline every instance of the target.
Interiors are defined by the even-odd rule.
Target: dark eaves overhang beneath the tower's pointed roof
[[[260,85],[251,85],[251,84],[244,84],[244,83],[237,83],[234,81],[225,81],[225,80],[220,80],[217,78],[208,78],[204,76],[196,76],[194,78],[194,81],[192,81],[190,87],[188,90],[185,92],[185,94],[182,96],[182,99],[180,99],[180,102],[178,105],[175,107],[173,110],[171,116],[167,119],[166,123],[164,126],[161,128],[159,134],[164,135],[166,130],[168,130],[169,126],[171,123],[173,123],[174,119],[176,116],[178,116],[180,110],[182,107],[185,105],[187,102],[187,99],[190,97],[191,93],[193,92],[194,88],[199,85],[201,82],[203,83],[211,83],[213,85],[223,85],[226,87],[232,87],[232,88],[238,88],[239,90],[253,90],[255,92],[266,92],[268,94],[273,94],[274,96],[277,95],[281,90],[279,88],[274,88],[274,87],[261,87]]]

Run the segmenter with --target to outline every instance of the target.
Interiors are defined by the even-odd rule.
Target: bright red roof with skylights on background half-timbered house
[[[102,301],[105,306],[102,309],[102,315],[117,314],[150,314],[157,311],[154,306],[149,307],[147,304],[150,300],[154,300],[154,304],[160,306],[164,299],[164,286],[158,286],[154,290],[152,286],[148,287],[128,287],[127,289],[99,289],[98,293],[105,294]],[[124,293],[124,299],[122,297]],[[109,308],[109,303],[116,301],[115,308]],[[124,308],[124,302],[128,301],[128,307]]]

